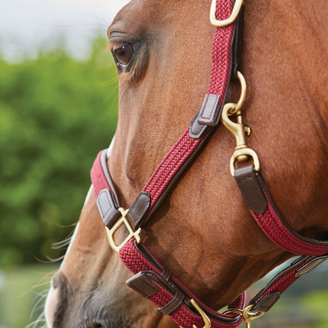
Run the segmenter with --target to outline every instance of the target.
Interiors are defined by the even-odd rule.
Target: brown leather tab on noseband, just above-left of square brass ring
[[[118,212],[114,205],[113,196],[108,189],[103,189],[97,198],[98,210],[101,213],[104,225],[111,229],[115,222],[121,217],[121,213]]]

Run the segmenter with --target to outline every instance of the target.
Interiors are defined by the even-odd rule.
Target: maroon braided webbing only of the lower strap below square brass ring
[[[121,250],[118,252],[118,254],[120,255],[121,260],[125,264],[125,266],[128,267],[128,269],[131,272],[133,272],[134,274],[137,274],[140,271],[151,270],[151,271],[157,272],[160,275],[160,272],[153,265],[151,265],[151,263],[148,262],[148,260],[146,260],[145,257],[143,257],[140,254],[140,252],[138,252],[138,250],[135,248],[133,238],[121,248]],[[158,262],[158,265],[160,265],[159,262]],[[162,267],[162,265],[160,265],[160,267]],[[172,277],[172,278],[173,278],[173,280],[175,280],[175,282],[178,282],[178,280],[176,280],[174,277]],[[158,285],[158,284],[156,284],[156,282],[153,282],[153,283],[155,285]],[[178,282],[178,284],[180,284],[180,282]],[[160,308],[160,307],[164,307],[166,304],[168,304],[173,299],[174,295],[170,294],[170,292],[163,289],[163,287],[161,287],[159,285],[158,285],[158,287],[160,288],[160,290],[158,292],[156,292],[155,294],[151,295],[150,297],[148,297],[147,299],[150,300],[150,302],[153,302],[157,307]],[[188,289],[186,289],[186,290],[188,290]],[[209,307],[206,307],[205,304],[200,302],[200,300],[197,299],[197,297],[195,297],[189,290],[188,290],[188,292],[191,294],[192,298],[195,299],[195,301],[198,304],[201,304],[209,312],[212,312],[213,314],[215,314],[217,316],[217,312],[214,312]],[[242,308],[244,305],[244,302],[245,302],[245,298],[244,298],[244,294],[242,294],[233,304],[230,304],[230,307]],[[193,328],[193,324],[195,324],[197,327],[203,327],[203,324],[204,324],[202,317],[190,312],[190,310],[188,310],[183,304],[181,304],[178,307],[178,309],[175,309],[175,311],[169,315],[176,324],[178,324],[179,326],[182,326],[184,328]],[[220,314],[220,317],[235,318],[237,316],[235,314]],[[222,324],[220,322],[216,322],[215,320],[211,320],[213,328],[234,328],[234,327],[237,327],[241,321],[242,321],[242,318],[240,318],[234,324]]]

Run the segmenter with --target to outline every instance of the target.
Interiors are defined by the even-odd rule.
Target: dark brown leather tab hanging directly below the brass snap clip
[[[253,170],[253,165],[238,168],[234,175],[246,205],[253,212],[263,214],[267,209],[267,198]]]

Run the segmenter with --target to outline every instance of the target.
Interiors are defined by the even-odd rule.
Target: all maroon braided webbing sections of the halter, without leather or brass
[[[232,12],[232,6],[232,0],[217,0],[217,19],[227,19]],[[230,26],[217,28],[215,30],[215,36],[213,39],[212,71],[207,93],[220,95],[219,106],[221,106],[222,102],[224,101],[224,95],[226,93],[227,83],[230,75],[230,46],[232,43],[233,33],[234,26],[233,24],[230,24]],[[213,110],[215,110],[215,108],[213,108]],[[162,162],[158,165],[158,168],[156,168],[150,180],[143,188],[143,191],[150,194],[150,210],[152,210],[153,207],[158,203],[165,190],[167,190],[168,185],[170,185],[175,176],[180,173],[181,168],[183,168],[191,155],[195,153],[195,151],[198,149],[198,146],[200,146],[203,142],[204,138],[205,135],[200,138],[191,138],[188,128],[185,130],[185,133],[183,133],[178,142],[175,143],[168,155],[166,155]],[[101,165],[101,153],[98,154],[91,170],[93,188],[97,196],[103,189],[108,189],[112,195],[115,195],[114,190],[111,188],[111,183],[108,183],[106,175],[103,173],[103,168]],[[260,227],[262,227],[262,230],[265,231],[265,233],[270,237],[272,241],[274,241],[277,245],[280,245],[280,247],[284,248],[285,250],[295,254],[322,255],[328,252],[327,246],[313,245],[309,242],[299,239],[296,235],[293,235],[292,232],[290,232],[281,222],[280,217],[273,209],[270,200],[268,201],[268,204],[269,205],[267,210],[263,215],[257,215],[255,212],[252,212],[252,214],[254,215],[255,220],[257,220]],[[150,210],[148,211],[148,214]],[[119,255],[126,267],[128,267],[128,269],[134,274],[144,270],[152,270],[160,274],[154,265],[146,260],[145,257],[143,257],[135,248],[134,238],[132,238],[121,248]],[[158,265],[160,264],[158,263]],[[160,265],[160,267],[162,266]],[[297,275],[295,274],[298,269],[299,267],[291,270],[286,275],[279,277],[279,279],[277,279],[277,281],[272,286],[270,286],[269,289],[266,289],[265,293],[261,294],[260,296],[264,297],[265,295],[276,291],[284,292],[285,289],[291,285],[292,282],[294,282],[294,280],[297,280]],[[172,279],[175,280],[174,277],[172,277]],[[178,280],[175,281],[178,282]],[[156,284],[156,282],[153,283]],[[179,283],[179,285],[181,284]],[[155,292],[155,294],[148,297],[148,299],[158,307],[164,307],[166,304],[172,301],[174,295],[170,294],[170,292],[168,292],[160,285],[158,285],[158,287],[158,292]],[[185,289],[185,287],[183,288]],[[191,292],[189,292],[189,294],[193,296]],[[212,312],[218,316],[216,312],[213,312],[211,309],[206,307],[195,296],[193,296],[193,298],[203,307],[203,309],[206,309],[207,312]],[[243,305],[243,297],[240,297],[237,300],[237,303],[233,304],[233,306],[237,308],[242,308]],[[169,315],[178,325],[182,327],[192,328],[193,324],[195,324],[197,327],[203,327],[203,319],[199,315],[190,312],[190,310],[185,307],[184,304],[180,304],[180,306]],[[213,315],[213,317],[215,316]],[[234,328],[237,327],[242,321],[242,318],[240,317],[240,319],[236,319],[235,322],[227,322],[227,318],[236,318],[235,314],[219,314],[219,317],[223,319],[222,322],[217,322],[216,320],[211,319],[213,328]]]

